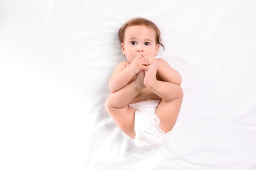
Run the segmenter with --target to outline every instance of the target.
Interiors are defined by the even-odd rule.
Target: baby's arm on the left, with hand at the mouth
[[[121,62],[114,69],[114,72],[108,82],[110,92],[114,93],[129,84],[133,76],[137,75],[141,70],[147,69],[145,65],[148,65],[142,56],[137,56],[127,66],[127,62]]]

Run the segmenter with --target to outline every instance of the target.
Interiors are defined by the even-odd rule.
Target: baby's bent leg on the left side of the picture
[[[133,139],[135,139],[135,110],[128,105],[139,94],[142,88],[144,88],[144,84],[142,85],[143,74],[144,73],[139,73],[134,82],[110,94],[105,103],[108,114],[110,114],[117,126],[123,133],[126,133]]]

